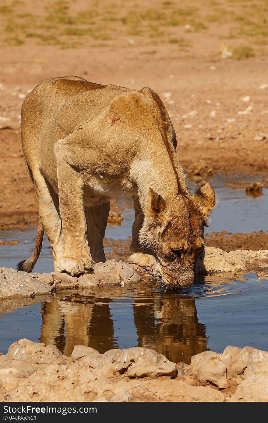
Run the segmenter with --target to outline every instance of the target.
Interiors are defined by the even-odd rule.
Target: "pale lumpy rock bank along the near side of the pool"
[[[0,401],[268,401],[268,352],[228,346],[186,365],[141,347],[67,357],[21,339],[0,355]]]

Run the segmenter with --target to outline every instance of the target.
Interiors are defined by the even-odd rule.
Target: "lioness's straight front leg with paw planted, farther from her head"
[[[61,272],[74,276],[93,269],[94,261],[86,238],[82,175],[64,160],[63,155],[58,148],[58,189],[64,245],[57,267]]]

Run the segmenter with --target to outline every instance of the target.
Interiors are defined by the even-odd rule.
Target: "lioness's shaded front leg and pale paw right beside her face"
[[[135,220],[132,226],[132,242],[130,246],[131,255],[127,259],[129,263],[138,264],[148,270],[155,269],[156,261],[151,254],[147,254],[139,242],[139,232],[144,222],[144,214],[138,198],[134,198]]]

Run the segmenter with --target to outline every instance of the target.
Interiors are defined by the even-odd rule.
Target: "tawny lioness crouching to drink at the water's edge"
[[[34,253],[19,270],[33,270],[44,231],[55,270],[80,275],[105,261],[109,201],[124,195],[135,207],[128,261],[156,267],[168,286],[193,283],[215,193],[207,183],[190,195],[174,127],[154,91],[75,76],[44,80],[22,104],[21,133],[39,223]]]

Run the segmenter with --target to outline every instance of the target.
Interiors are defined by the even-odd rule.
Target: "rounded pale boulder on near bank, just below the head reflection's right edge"
[[[226,365],[221,361],[221,354],[204,351],[194,355],[191,358],[190,368],[202,384],[210,382],[218,388],[229,386],[226,379]]]

